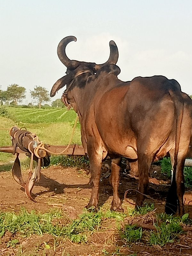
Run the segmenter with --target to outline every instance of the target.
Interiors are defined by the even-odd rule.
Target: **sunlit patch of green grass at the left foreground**
[[[9,231],[13,235],[22,237],[32,234],[38,236],[50,234],[54,237],[70,239],[72,242],[84,243],[87,241],[88,232],[91,234],[99,230],[103,218],[101,212],[84,212],[79,219],[67,225],[61,225],[58,219],[63,217],[59,210],[44,214],[35,211],[28,212],[25,208],[22,208],[18,214],[0,212],[0,237]]]

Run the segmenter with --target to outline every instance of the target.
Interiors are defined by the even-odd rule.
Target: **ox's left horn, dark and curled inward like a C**
[[[57,55],[60,59],[60,61],[67,67],[67,68],[74,68],[77,65],[76,60],[70,60],[65,52],[65,48],[68,45],[68,43],[72,42],[72,41],[77,41],[75,36],[66,36],[65,38],[63,38],[58,47],[57,47]]]

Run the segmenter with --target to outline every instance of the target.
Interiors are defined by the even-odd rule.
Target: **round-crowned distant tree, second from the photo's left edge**
[[[7,87],[6,95],[8,100],[12,100],[16,106],[18,102],[25,99],[26,89],[18,84],[12,84]]]

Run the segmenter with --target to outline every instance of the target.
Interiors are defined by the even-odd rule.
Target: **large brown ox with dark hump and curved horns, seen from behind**
[[[191,121],[191,100],[181,92],[175,80],[164,76],[136,77],[130,82],[117,78],[118,49],[110,41],[110,56],[106,63],[70,60],[65,52],[76,37],[61,40],[57,54],[67,67],[66,76],[52,87],[51,97],[67,85],[62,101],[73,107],[81,123],[82,144],[90,160],[92,195],[87,208],[98,207],[101,162],[113,158],[111,210],[122,211],[118,196],[120,157],[138,161],[138,190],[146,193],[149,167],[156,158],[169,152],[173,165],[173,181],[165,211],[184,213],[183,168],[187,154]],[[144,196],[138,193],[136,205]]]

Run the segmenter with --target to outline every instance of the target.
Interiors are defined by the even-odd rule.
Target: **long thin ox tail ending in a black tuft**
[[[171,93],[170,93],[171,94]],[[172,97],[175,102],[175,117],[176,117],[176,129],[175,129],[175,152],[174,152],[174,165],[172,173],[172,183],[166,198],[165,212],[167,214],[175,214],[178,208],[178,196],[177,196],[177,184],[176,184],[176,168],[178,163],[178,152],[180,143],[181,124],[183,119],[183,102],[176,97]]]

